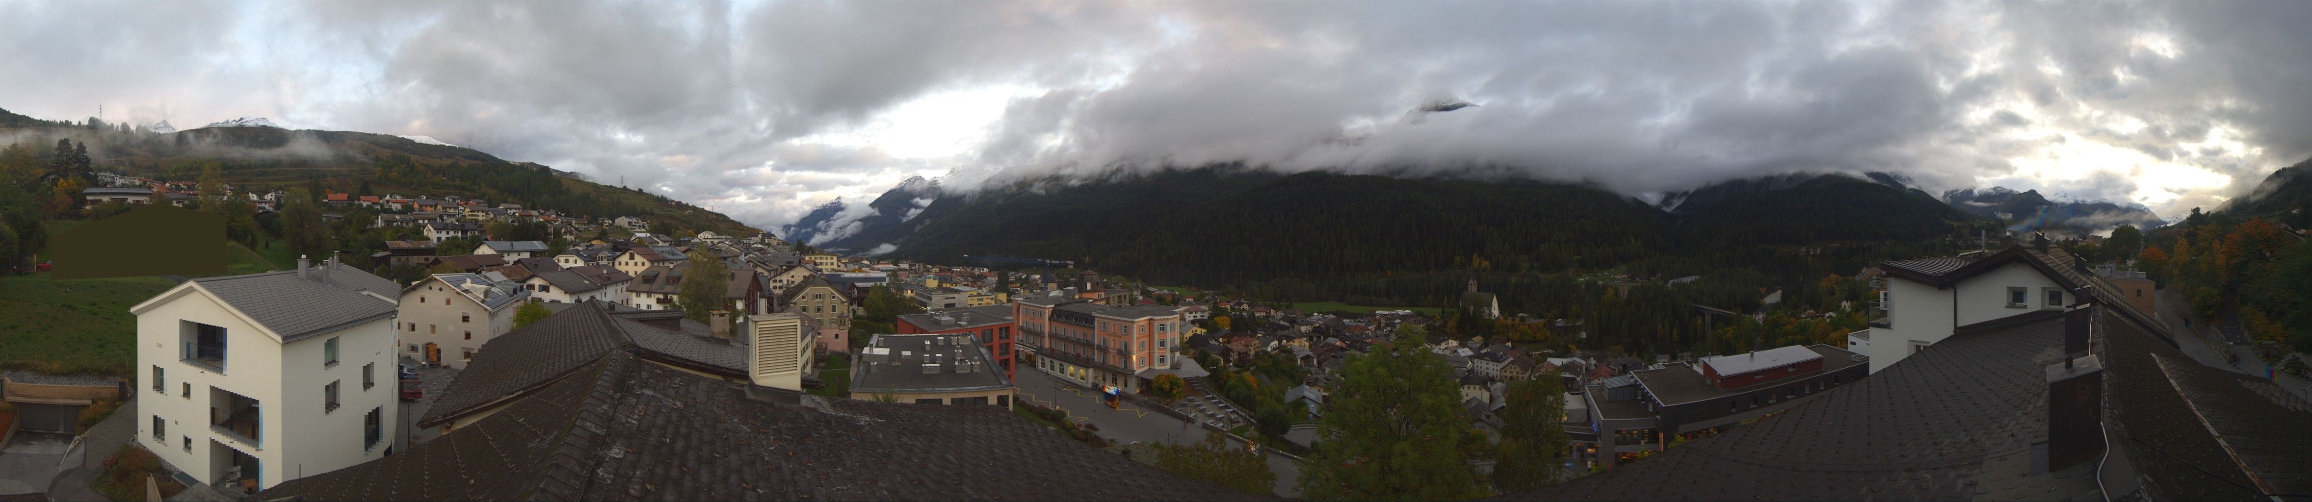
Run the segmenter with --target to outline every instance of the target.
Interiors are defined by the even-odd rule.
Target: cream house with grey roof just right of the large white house
[[[481,273],[435,273],[400,289],[400,354],[465,368],[474,352],[513,328],[513,308],[529,298],[520,282]]]

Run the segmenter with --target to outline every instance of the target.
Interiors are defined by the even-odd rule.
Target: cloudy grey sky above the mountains
[[[1248,162],[1625,194],[1898,171],[2215,206],[2312,155],[2305,2],[0,2],[0,109],[425,134],[756,227],[909,176]],[[1408,113],[1429,102],[1473,109]]]

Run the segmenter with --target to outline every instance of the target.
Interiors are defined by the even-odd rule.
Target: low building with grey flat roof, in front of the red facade
[[[969,333],[881,333],[858,354],[851,366],[855,400],[1010,407],[1017,389]]]

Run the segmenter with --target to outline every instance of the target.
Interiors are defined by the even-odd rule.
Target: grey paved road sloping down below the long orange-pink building
[[[1110,409],[1096,391],[1077,389],[1031,366],[1020,368],[1020,377],[1015,382],[1020,384],[1020,400],[1064,409],[1070,421],[1091,423],[1101,428],[1098,433],[1103,437],[1117,442],[1193,444],[1205,440],[1205,428],[1191,426],[1188,421],[1172,419],[1170,414],[1154,409],[1140,409],[1140,405],[1131,400]],[[1242,449],[1244,442],[1228,440],[1228,446]],[[1276,472],[1276,495],[1299,495],[1299,463],[1292,463],[1292,458],[1285,456],[1267,456],[1267,460],[1269,470]]]

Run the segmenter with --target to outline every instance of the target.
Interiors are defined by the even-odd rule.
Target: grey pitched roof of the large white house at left
[[[192,282],[250,315],[284,342],[391,317],[400,308],[395,298],[402,289],[393,280],[335,264],[326,266],[328,285],[321,285],[324,266],[312,268],[314,278],[298,278],[296,271],[271,271]]]

